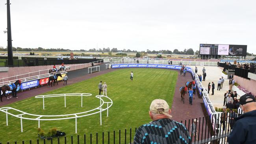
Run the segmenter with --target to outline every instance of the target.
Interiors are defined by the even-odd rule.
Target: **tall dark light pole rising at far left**
[[[13,44],[11,40],[11,13],[10,13],[10,0],[7,0],[7,52],[8,52],[8,65],[13,65]]]

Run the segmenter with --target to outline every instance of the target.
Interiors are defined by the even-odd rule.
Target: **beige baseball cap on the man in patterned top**
[[[170,118],[172,117],[170,114],[168,114],[170,108],[168,103],[165,100],[162,100],[162,99],[153,100],[149,109],[152,113],[164,114]]]

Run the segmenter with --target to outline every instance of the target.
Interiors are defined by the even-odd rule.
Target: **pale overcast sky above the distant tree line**
[[[256,54],[255,0],[10,0],[14,47],[174,50],[243,44]],[[0,46],[7,46],[6,0]]]

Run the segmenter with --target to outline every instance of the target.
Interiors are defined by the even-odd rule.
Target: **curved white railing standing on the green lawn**
[[[81,99],[83,99],[83,96],[91,96],[92,94],[82,94],[82,93],[76,93],[76,94],[54,94],[54,95],[44,95],[44,96],[36,96],[36,98],[43,98],[43,100],[45,98],[52,98],[52,97],[66,97],[66,96],[81,96]],[[113,105],[113,101],[107,97],[107,96],[103,96],[103,95],[97,95],[95,96],[96,98],[100,99],[100,105],[98,107],[96,107],[95,109],[91,109],[89,111],[84,111],[81,113],[73,113],[73,114],[62,114],[62,115],[40,115],[40,114],[30,114],[30,113],[26,113],[24,111],[20,111],[19,109],[14,109],[12,107],[2,107],[0,108],[0,111],[2,111],[3,113],[6,113],[6,126],[8,126],[8,114],[11,116],[14,116],[16,118],[20,118],[20,127],[21,127],[21,132],[23,132],[23,124],[22,124],[22,120],[36,120],[38,121],[38,127],[40,127],[40,121],[41,120],[67,120],[67,119],[75,119],[75,131],[77,133],[77,118],[81,118],[81,117],[85,117],[85,116],[90,116],[93,114],[97,114],[100,113],[100,125],[102,125],[102,112],[107,110],[107,117],[108,117],[108,109],[109,107],[111,107]],[[102,98],[106,98],[108,99],[108,102],[105,102]],[[66,102],[66,101],[65,101]],[[102,108],[102,106],[104,104],[107,104],[106,108]],[[104,106],[105,107],[105,106]],[[11,112],[19,112],[21,114],[13,114],[11,112],[8,112],[8,110],[11,110]],[[96,111],[96,112],[93,112]],[[89,113],[89,112],[93,112],[93,113]],[[88,114],[86,114],[88,113]],[[82,114],[82,115],[81,115]],[[24,115],[24,116],[22,116]],[[78,116],[79,115],[79,116]],[[29,117],[37,117],[37,118],[29,118]],[[70,116],[70,117],[67,117]],[[46,117],[46,118],[44,118]],[[54,117],[54,118],[52,118]],[[57,117],[57,118],[56,118]],[[60,118],[58,118],[60,117]],[[64,118],[63,118],[64,117]]]

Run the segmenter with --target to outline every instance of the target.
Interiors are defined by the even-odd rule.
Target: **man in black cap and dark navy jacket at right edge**
[[[236,123],[228,136],[229,144],[256,144],[256,101],[251,94],[240,98],[244,114],[235,118]]]

